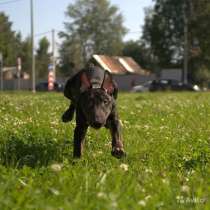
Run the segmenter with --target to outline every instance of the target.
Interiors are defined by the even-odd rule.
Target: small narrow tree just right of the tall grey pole
[[[39,47],[37,49],[36,55],[36,77],[37,78],[47,78],[48,75],[48,65],[50,64],[50,54],[49,41],[46,37],[39,41]]]

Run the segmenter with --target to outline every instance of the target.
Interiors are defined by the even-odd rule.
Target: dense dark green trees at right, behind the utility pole
[[[155,0],[146,12],[142,40],[161,68],[183,66],[184,17],[187,17],[189,77],[205,65],[210,69],[210,2]]]

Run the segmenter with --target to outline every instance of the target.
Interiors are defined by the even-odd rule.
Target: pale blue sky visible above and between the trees
[[[67,19],[65,11],[75,0],[34,0],[34,23],[36,43],[45,34],[51,39],[49,33],[64,30],[63,22]],[[144,8],[151,6],[152,0],[110,0],[111,4],[118,6],[124,16],[124,26],[129,32],[125,40],[139,39],[144,23]],[[13,30],[20,31],[23,37],[30,35],[30,0],[0,0],[0,12],[5,12],[13,22]],[[56,41],[59,43],[58,36]]]

